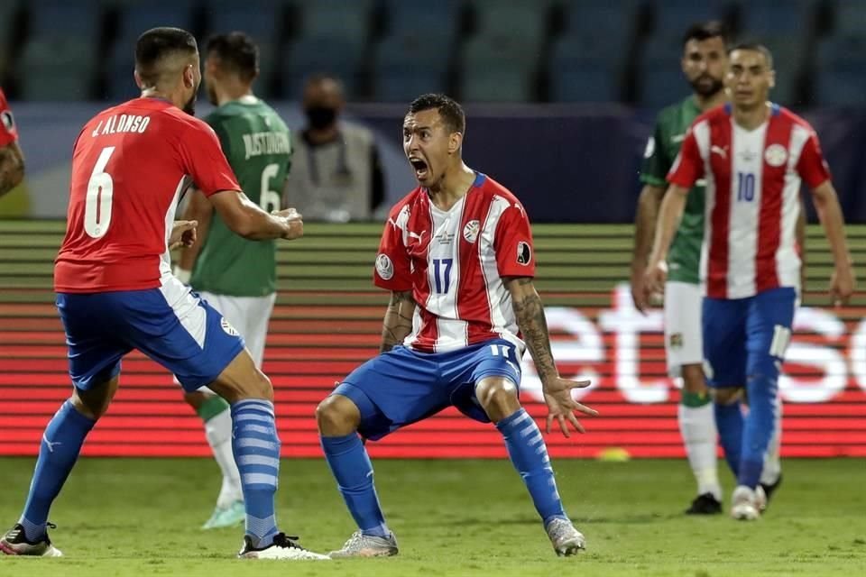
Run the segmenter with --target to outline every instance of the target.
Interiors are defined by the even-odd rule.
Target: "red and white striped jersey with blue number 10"
[[[798,287],[800,182],[815,188],[830,179],[812,127],[772,105],[769,120],[747,131],[734,123],[730,105],[715,108],[697,117],[668,173],[668,182],[683,188],[701,178],[705,294],[746,298]]]

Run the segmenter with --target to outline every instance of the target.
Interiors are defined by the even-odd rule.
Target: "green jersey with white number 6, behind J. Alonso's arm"
[[[227,102],[205,119],[222,144],[247,197],[267,212],[281,208],[291,139],[280,116],[254,96]],[[247,241],[215,212],[189,284],[231,297],[263,297],[277,289],[274,241]]]

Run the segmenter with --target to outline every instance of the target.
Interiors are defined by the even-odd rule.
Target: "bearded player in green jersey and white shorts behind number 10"
[[[683,38],[682,69],[693,94],[659,113],[647,142],[631,260],[631,295],[635,307],[648,307],[643,275],[652,248],[652,235],[665,194],[665,177],[677,158],[686,130],[696,117],[724,102],[723,78],[727,63],[724,30],[720,23],[696,24]],[[716,431],[712,399],[704,377],[701,345],[701,289],[698,261],[704,239],[704,187],[688,195],[683,218],[668,254],[670,272],[665,283],[665,353],[668,372],[681,377],[683,390],[677,412],[679,431],[697,481],[697,497],[686,513],[722,511],[722,489],[716,472]]]

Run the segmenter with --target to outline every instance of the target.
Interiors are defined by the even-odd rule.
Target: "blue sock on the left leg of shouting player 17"
[[[345,436],[321,437],[322,450],[337,488],[343,495],[358,528],[366,535],[389,536],[379,497],[373,485],[373,463],[364,449],[361,437],[352,433]]]

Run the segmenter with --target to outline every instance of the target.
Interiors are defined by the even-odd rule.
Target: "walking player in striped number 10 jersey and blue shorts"
[[[834,256],[835,303],[854,288],[842,210],[812,127],[769,103],[775,83],[769,50],[729,52],[729,105],[692,124],[668,173],[645,291],[661,290],[668,249],[698,179],[706,181],[701,258],[704,353],[716,424],[729,463],[737,463],[732,517],[760,517],[760,474],[775,427],[778,372],[791,336],[800,259],[795,242],[801,179],[812,189]],[[743,419],[742,388],[750,410]]]

